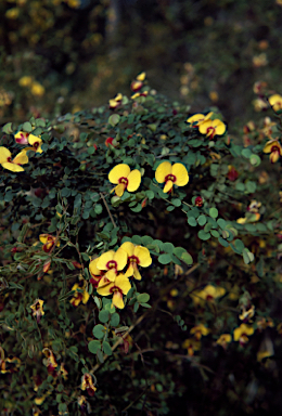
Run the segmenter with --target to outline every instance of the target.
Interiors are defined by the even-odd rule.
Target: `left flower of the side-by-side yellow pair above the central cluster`
[[[108,173],[108,181],[117,184],[112,192],[115,191],[117,196],[121,196],[125,190],[128,192],[138,190],[141,183],[141,173],[137,169],[130,171],[129,166],[126,164],[119,164]]]

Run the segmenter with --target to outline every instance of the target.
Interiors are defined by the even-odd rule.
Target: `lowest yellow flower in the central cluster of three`
[[[127,295],[130,289],[131,285],[128,277],[120,273],[116,276],[115,282],[98,287],[97,291],[101,296],[113,295],[112,304],[118,309],[124,309],[123,295]]]

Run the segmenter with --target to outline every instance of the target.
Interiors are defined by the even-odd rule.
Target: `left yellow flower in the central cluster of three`
[[[101,255],[95,262],[95,268],[104,271],[104,278],[100,281],[99,286],[103,285],[106,280],[114,282],[118,272],[125,269],[127,263],[127,252],[119,247],[116,251],[110,250]],[[94,264],[92,270],[94,271]]]

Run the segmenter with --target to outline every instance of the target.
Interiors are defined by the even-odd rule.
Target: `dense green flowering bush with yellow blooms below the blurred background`
[[[143,73],[131,98],[3,127],[2,415],[281,410],[282,98],[264,88],[271,118],[242,138]]]

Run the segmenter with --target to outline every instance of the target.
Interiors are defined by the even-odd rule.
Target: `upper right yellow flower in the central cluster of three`
[[[133,276],[140,281],[141,274],[139,273],[138,265],[141,265],[141,268],[149,268],[149,265],[152,264],[152,258],[149,249],[146,247],[136,246],[130,242],[124,243],[120,248],[123,248],[128,255],[129,266],[125,276]]]

